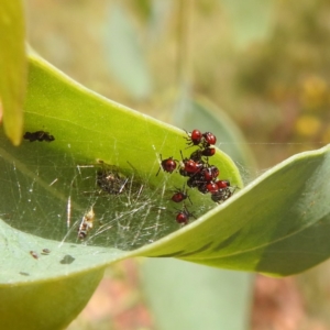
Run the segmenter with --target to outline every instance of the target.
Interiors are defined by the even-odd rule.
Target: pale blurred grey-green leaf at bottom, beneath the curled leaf
[[[252,274],[175,258],[146,260],[141,273],[157,329],[249,328]]]

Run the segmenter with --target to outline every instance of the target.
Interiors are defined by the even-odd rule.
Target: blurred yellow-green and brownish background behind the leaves
[[[187,94],[224,111],[256,160],[238,164],[245,182],[330,142],[329,1],[29,0],[25,10],[31,46],[88,88],[169,123]],[[109,270],[68,329],[157,329],[139,263]],[[330,329],[329,273],[328,262],[257,275],[246,329]]]

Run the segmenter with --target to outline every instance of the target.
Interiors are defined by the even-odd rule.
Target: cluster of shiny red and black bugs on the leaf
[[[219,168],[209,164],[209,157],[216,154],[216,148],[212,147],[217,143],[216,135],[211,132],[201,133],[199,130],[187,132],[187,135],[185,139],[188,147],[197,146],[198,148],[190,154],[189,158],[184,157],[180,151],[180,162],[174,157],[163,160],[161,155],[161,167],[156,175],[161,168],[164,172],[173,173],[179,164],[178,172],[182,176],[188,177],[187,186],[189,188],[196,188],[201,194],[210,194],[211,199],[219,204],[227,200],[233,194],[233,188],[229,180],[219,179]],[[175,202],[182,202],[186,199],[191,202],[185,186],[183,189],[176,189],[172,196],[172,200]],[[195,218],[184,204],[183,210],[178,210],[176,215],[176,221],[180,224],[187,224],[190,217]]]

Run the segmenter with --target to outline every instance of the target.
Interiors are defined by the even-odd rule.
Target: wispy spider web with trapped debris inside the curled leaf
[[[175,187],[172,179],[179,174],[161,172],[161,184],[150,185],[158,169],[156,152],[153,170],[138,174],[133,165],[130,172],[122,173],[116,164],[78,160],[70,144],[58,151],[46,142],[23,141],[19,148],[4,138],[0,142],[0,216],[20,231],[59,244],[133,250],[182,228],[175,218],[183,204],[170,200],[175,188],[182,188]],[[105,168],[121,178],[119,194],[103,191],[98,185],[98,175]],[[193,205],[185,205],[196,219],[217,206],[209,195],[191,190],[188,194]],[[92,228],[81,240],[78,231],[91,210]]]

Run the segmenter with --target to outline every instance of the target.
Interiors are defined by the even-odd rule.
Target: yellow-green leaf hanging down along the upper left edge
[[[25,29],[20,0],[1,2],[0,50],[0,122],[2,119],[6,134],[18,145],[22,139],[26,88]]]

